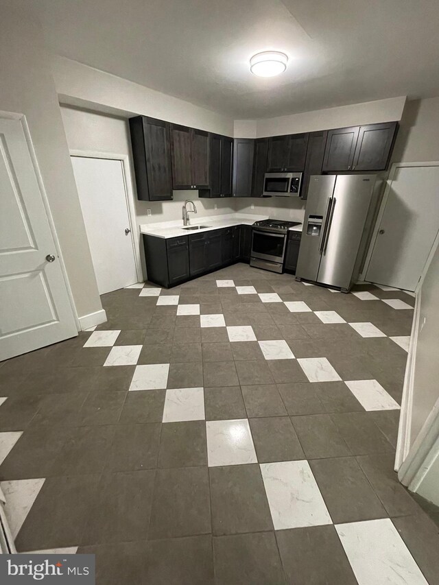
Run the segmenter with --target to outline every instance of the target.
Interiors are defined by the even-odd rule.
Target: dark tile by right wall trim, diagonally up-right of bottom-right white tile
[[[357,457],[357,462],[389,516],[405,516],[419,512],[416,501],[399,483],[398,475],[394,471],[394,455],[390,453],[366,455]]]

